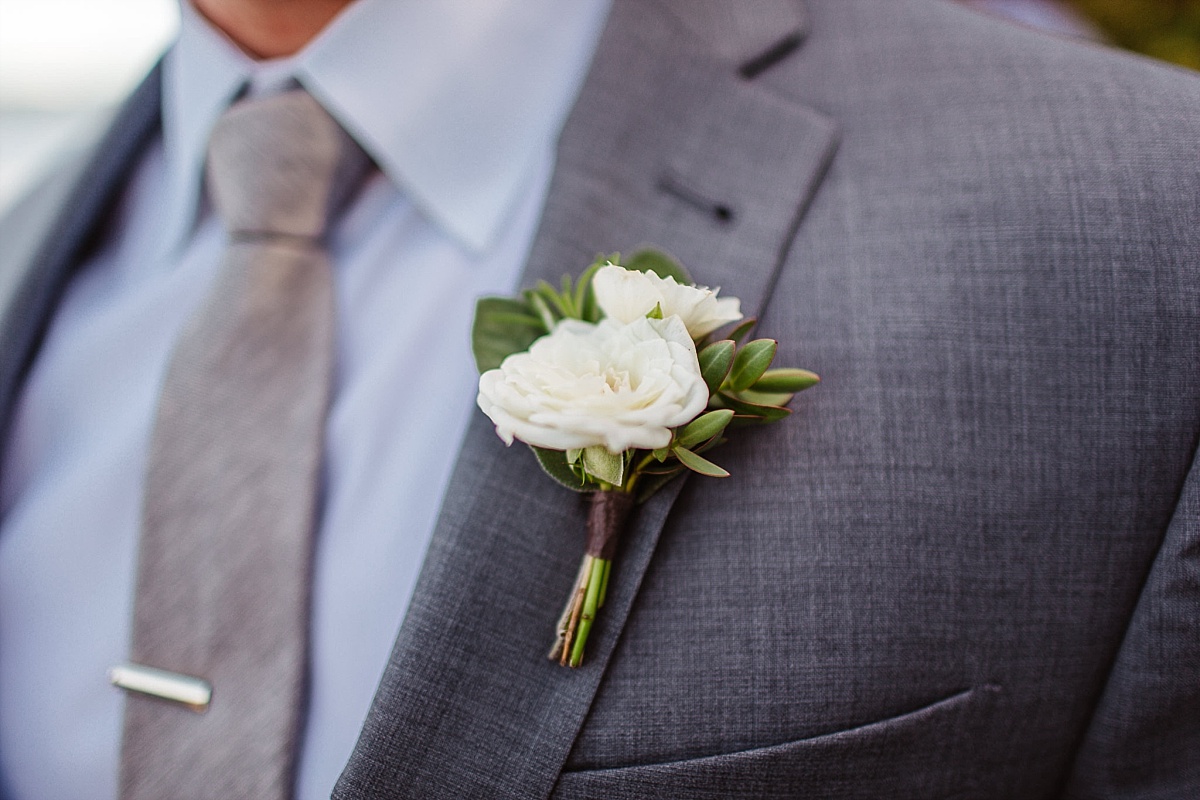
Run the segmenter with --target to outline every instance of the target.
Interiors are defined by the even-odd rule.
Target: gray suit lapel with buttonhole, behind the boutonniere
[[[680,4],[683,5],[683,4]],[[796,34],[706,43],[712,17],[618,0],[564,131],[524,284],[652,243],[754,313],[833,152],[833,124],[738,76]],[[763,6],[769,4],[763,4]],[[756,8],[757,10],[757,8]],[[739,43],[742,50],[739,53]],[[641,506],[586,663],[550,662],[583,551],[586,504],[476,415],[391,662],[335,796],[545,798],[583,723],[683,481]]]

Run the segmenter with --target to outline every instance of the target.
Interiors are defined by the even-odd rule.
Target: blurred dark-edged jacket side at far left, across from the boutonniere
[[[0,254],[0,441],[25,372],[74,269],[158,128],[162,64],[118,112],[100,144],[62,168],[5,221]]]

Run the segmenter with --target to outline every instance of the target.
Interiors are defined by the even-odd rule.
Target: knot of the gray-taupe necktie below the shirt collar
[[[320,239],[370,160],[302,90],[234,103],[209,139],[209,194],[232,236]]]

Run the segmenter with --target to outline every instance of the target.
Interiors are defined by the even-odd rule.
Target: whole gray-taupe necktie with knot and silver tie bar
[[[214,130],[229,245],[150,447],[132,663],[113,673],[133,690],[125,800],[290,796],[332,366],[322,240],[367,164],[302,91],[238,103]]]

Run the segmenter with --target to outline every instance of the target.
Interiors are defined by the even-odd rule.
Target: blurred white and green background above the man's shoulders
[[[1200,70],[1200,0],[958,1]],[[0,0],[0,211],[145,73],[174,35],[178,2]]]

